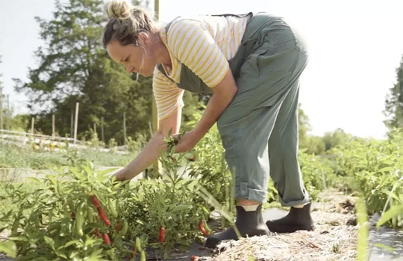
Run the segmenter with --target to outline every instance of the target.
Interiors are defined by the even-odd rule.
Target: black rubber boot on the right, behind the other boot
[[[304,205],[304,208],[290,208],[286,217],[269,220],[266,222],[271,232],[293,233],[297,230],[315,230],[311,217],[311,203]]]

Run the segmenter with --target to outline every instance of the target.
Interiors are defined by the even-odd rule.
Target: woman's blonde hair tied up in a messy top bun
[[[137,44],[138,33],[159,30],[158,23],[147,11],[125,0],[110,0],[105,3],[104,10],[109,17],[101,37],[104,47],[113,40],[122,46]]]

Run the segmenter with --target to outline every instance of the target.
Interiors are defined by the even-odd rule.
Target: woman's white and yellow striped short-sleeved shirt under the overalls
[[[161,40],[170,53],[172,68],[164,67],[165,76],[154,69],[153,92],[158,119],[169,117],[183,107],[183,90],[178,87],[182,62],[208,87],[215,87],[229,70],[228,60],[235,56],[242,40],[247,17],[178,17],[168,31],[161,30]]]

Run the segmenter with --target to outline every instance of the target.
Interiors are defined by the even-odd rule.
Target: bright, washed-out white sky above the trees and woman
[[[150,0],[152,10],[154,1]],[[342,128],[359,137],[384,138],[383,110],[403,56],[403,1],[160,0],[161,22],[179,15],[269,12],[286,19],[309,51],[299,102],[311,135]],[[50,19],[54,0],[0,0],[0,81],[15,112],[28,112],[12,78],[26,80],[43,44],[34,17]]]

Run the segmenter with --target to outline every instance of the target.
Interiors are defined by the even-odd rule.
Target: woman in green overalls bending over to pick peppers
[[[312,230],[309,196],[297,161],[299,76],[306,51],[290,27],[265,13],[177,17],[159,27],[146,12],[125,1],[109,1],[102,41],[110,58],[129,73],[153,78],[158,132],[115,176],[127,180],[157,160],[163,137],[179,133],[184,90],[212,94],[194,130],[176,147],[190,151],[217,121],[235,176],[236,226],[242,237]],[[262,218],[268,179],[274,180],[282,219]],[[232,228],[207,238],[215,247],[237,239]]]

